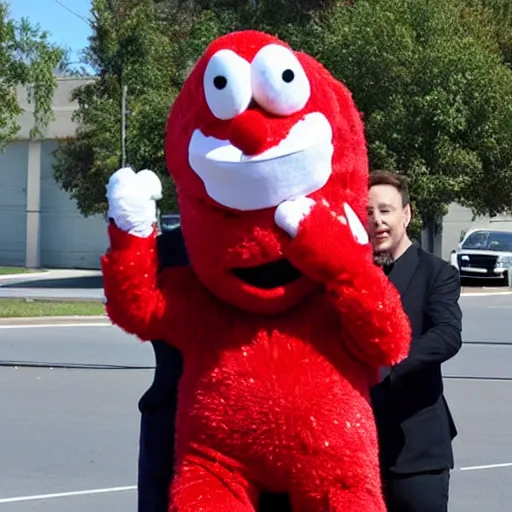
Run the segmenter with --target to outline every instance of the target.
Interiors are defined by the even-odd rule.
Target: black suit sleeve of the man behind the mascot
[[[431,327],[412,340],[409,356],[391,370],[391,384],[427,365],[444,363],[457,354],[462,346],[459,297],[458,272],[445,264],[436,276],[426,303],[425,315]]]

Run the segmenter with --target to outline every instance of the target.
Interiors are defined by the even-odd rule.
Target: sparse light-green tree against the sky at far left
[[[0,150],[20,129],[19,86],[27,88],[28,99],[34,105],[31,135],[43,133],[52,119],[56,87],[53,70],[63,58],[64,52],[49,42],[46,32],[32,27],[26,19],[11,19],[7,4],[0,0]]]

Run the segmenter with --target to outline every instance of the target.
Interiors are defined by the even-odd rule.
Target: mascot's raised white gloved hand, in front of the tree
[[[119,169],[107,184],[108,217],[122,231],[147,237],[153,232],[156,201],[161,197],[162,183],[154,172]]]

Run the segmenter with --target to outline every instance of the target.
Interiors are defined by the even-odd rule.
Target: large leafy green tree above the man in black
[[[458,0],[359,0],[322,20],[321,59],[363,112],[371,166],[408,176],[423,220],[452,201],[512,205],[512,73],[483,16]]]

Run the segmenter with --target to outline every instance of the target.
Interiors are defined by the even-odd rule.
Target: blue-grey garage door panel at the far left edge
[[[23,266],[26,245],[28,143],[0,153],[0,264]]]

